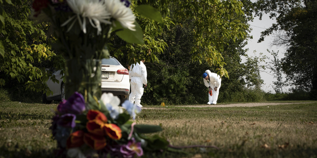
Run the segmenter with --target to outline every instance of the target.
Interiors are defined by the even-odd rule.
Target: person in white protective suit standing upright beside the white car
[[[144,60],[140,61],[139,63],[133,64],[130,67],[129,72],[129,78],[130,78],[130,85],[131,85],[131,93],[129,96],[129,102],[134,103],[138,105],[139,107],[142,107],[141,103],[141,97],[144,92],[144,87],[146,87],[148,84],[147,81],[147,68],[144,65]],[[144,84],[144,87],[143,87]]]

